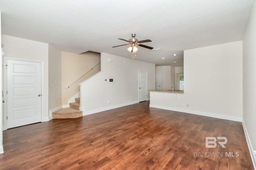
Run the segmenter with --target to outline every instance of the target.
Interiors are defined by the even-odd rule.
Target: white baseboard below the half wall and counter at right
[[[172,110],[172,111],[179,111],[179,112],[190,113],[190,114],[194,114],[194,115],[214,117],[214,118],[218,118],[218,119],[225,119],[225,120],[232,120],[232,121],[242,122],[242,117],[234,117],[234,116],[228,116],[228,115],[218,115],[218,114],[214,114],[214,113],[207,113],[207,112],[202,112],[202,111],[194,111],[194,110],[180,109],[180,108],[175,108],[175,107],[159,106],[159,105],[152,105],[152,104],[150,104],[149,107],[154,107],[154,108],[158,108],[158,109],[165,109],[165,110]]]

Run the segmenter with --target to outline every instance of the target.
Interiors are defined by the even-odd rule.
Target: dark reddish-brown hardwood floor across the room
[[[205,137],[226,137],[226,148],[206,148]],[[8,129],[3,140],[4,170],[253,169],[242,123],[149,102]]]

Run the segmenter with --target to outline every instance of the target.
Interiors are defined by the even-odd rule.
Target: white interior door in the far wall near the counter
[[[147,72],[139,71],[139,102],[147,100]]]

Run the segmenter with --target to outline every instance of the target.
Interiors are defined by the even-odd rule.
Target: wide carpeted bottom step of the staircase
[[[54,111],[52,113],[52,119],[69,119],[69,118],[77,118],[82,116],[83,116],[82,111],[73,109],[70,107],[63,108],[58,111]]]

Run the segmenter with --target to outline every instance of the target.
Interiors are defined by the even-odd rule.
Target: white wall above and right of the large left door
[[[29,59],[43,62],[42,109],[44,120],[48,121],[48,44],[9,35],[2,35],[4,57]]]

